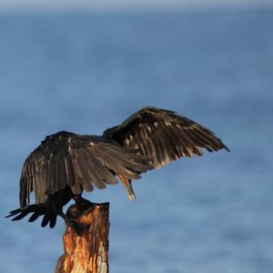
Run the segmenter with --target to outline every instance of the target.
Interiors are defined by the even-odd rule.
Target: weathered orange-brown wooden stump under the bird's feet
[[[66,215],[77,222],[90,225],[81,236],[72,227],[64,234],[65,253],[58,259],[56,273],[107,273],[109,203],[94,204],[84,214],[76,216],[76,205],[68,208]]]

